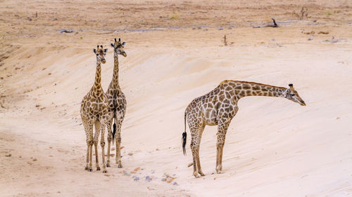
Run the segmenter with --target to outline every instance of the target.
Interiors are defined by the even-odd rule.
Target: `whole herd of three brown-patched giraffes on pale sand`
[[[120,145],[121,145],[121,125],[125,118],[125,112],[127,102],[125,94],[122,93],[120,85],[118,83],[118,55],[124,57],[127,56],[125,50],[125,42],[121,42],[115,39],[114,43],[111,43],[114,53],[114,68],[113,68],[113,79],[106,93],[103,92],[101,87],[101,64],[105,64],[105,55],[107,49],[103,46],[97,46],[94,48],[94,54],[96,55],[96,74],[94,85],[92,86],[89,93],[84,96],[81,102],[80,115],[84,126],[84,131],[87,137],[87,163],[85,170],[92,172],[92,151],[93,144],[96,156],[96,170],[100,170],[99,158],[98,158],[98,142],[99,135],[101,134],[101,155],[102,155],[102,172],[106,173],[107,167],[111,167],[110,164],[110,149],[111,141],[116,144],[116,157],[115,162],[118,164],[118,168],[122,168]],[[187,106],[184,111],[184,133],[182,133],[182,148],[184,154],[186,154],[186,122],[188,122],[189,130],[191,133],[191,152],[193,157],[193,175],[198,178],[204,176],[201,170],[201,162],[199,160],[199,147],[201,143],[201,135],[206,125],[218,125],[217,143],[216,143],[216,167],[217,173],[222,170],[222,149],[225,144],[225,137],[227,128],[230,125],[232,118],[237,114],[239,107],[237,102],[242,97],[248,96],[267,96],[267,97],[284,97],[293,102],[297,102],[302,106],[306,103],[298,95],[292,84],[289,84],[289,88],[277,87],[265,85],[262,83],[253,83],[247,81],[222,81],[218,87],[210,91],[206,95],[196,97]],[[111,129],[113,126],[113,130]],[[93,134],[93,127],[95,133]],[[108,150],[107,150],[107,161],[105,162],[105,128],[108,130]]]

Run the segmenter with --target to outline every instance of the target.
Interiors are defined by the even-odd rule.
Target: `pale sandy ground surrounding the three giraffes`
[[[351,1],[0,4],[0,196],[351,196]],[[308,17],[299,18],[302,6]],[[251,27],[272,17],[281,27]],[[118,37],[127,42],[124,168],[113,163],[104,175],[84,171],[79,111],[94,81],[92,48]],[[106,58],[104,90],[110,47]],[[206,176],[195,179],[190,139],[187,156],[181,148],[184,109],[224,79],[294,83],[307,106],[242,99],[222,174],[215,173],[216,127],[207,126]]]

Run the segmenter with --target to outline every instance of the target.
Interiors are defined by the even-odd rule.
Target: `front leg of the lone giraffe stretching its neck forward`
[[[222,170],[222,149],[224,148],[226,132],[227,132],[227,128],[230,125],[230,121],[224,120],[224,121],[219,121],[218,123],[218,133],[216,133],[218,139],[216,144],[217,151],[216,151],[216,168],[215,168],[218,174],[220,174]]]

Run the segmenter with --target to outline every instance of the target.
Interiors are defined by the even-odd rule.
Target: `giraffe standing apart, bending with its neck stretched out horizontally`
[[[222,149],[225,144],[227,128],[239,110],[237,102],[242,97],[248,96],[284,97],[293,102],[298,102],[302,106],[306,106],[306,103],[299,97],[291,83],[289,84],[289,88],[283,88],[247,81],[222,81],[210,93],[194,99],[184,111],[182,148],[185,155],[187,120],[191,132],[191,151],[193,156],[193,163],[191,164],[193,164],[194,177],[198,178],[200,177],[199,175],[204,176],[199,160],[199,145],[206,125],[218,125],[215,170],[217,173],[220,173],[222,170]]]

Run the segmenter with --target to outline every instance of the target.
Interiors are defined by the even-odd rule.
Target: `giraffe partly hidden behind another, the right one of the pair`
[[[110,167],[110,142],[111,142],[111,136],[112,140],[115,138],[115,133],[116,133],[116,122],[117,122],[117,133],[116,133],[116,163],[118,163],[118,168],[122,168],[122,163],[121,163],[121,125],[123,118],[125,118],[125,113],[126,113],[126,97],[125,94],[122,93],[122,90],[118,84],[118,55],[123,55],[124,57],[127,56],[125,53],[125,50],[123,50],[123,46],[125,46],[125,42],[121,43],[121,39],[118,39],[115,43],[111,43],[111,46],[114,48],[113,49],[113,62],[114,62],[114,67],[113,67],[113,79],[111,80],[111,83],[108,87],[108,90],[106,91],[106,97],[108,97],[109,100],[109,106],[108,106],[108,113],[109,113],[109,118],[108,118],[108,161],[106,163],[107,167]],[[114,121],[114,123],[113,123]],[[111,131],[111,125],[113,123],[113,132]]]

